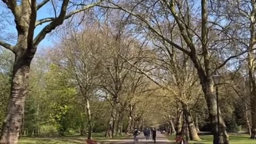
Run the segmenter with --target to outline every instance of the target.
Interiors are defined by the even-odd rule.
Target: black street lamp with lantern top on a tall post
[[[213,82],[216,87],[216,100],[217,100],[217,117],[218,117],[218,144],[220,144],[220,110],[219,110],[219,91],[218,91],[218,84],[220,83],[220,75],[218,73],[215,73],[215,75],[212,77]]]

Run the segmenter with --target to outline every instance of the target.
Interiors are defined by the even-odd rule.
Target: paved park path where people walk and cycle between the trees
[[[133,139],[124,139],[124,140],[106,140],[106,141],[100,141],[101,144],[133,144]],[[154,141],[152,140],[152,137],[149,138],[149,140],[146,140],[143,133],[139,135],[139,142],[137,144],[148,144],[152,143],[154,144]],[[166,138],[166,135],[161,134],[160,132],[157,132],[156,134],[156,143],[158,144],[172,144],[170,140]]]

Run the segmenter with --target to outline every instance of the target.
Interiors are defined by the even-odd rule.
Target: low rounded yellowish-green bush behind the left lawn
[[[54,125],[40,126],[42,137],[57,137],[59,135],[58,129]]]

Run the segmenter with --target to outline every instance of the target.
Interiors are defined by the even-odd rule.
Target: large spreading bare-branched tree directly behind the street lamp
[[[199,2],[201,2],[200,11],[196,11],[197,8],[195,7],[198,6]],[[197,75],[209,110],[214,143],[217,143],[217,102],[213,89],[214,84],[212,76],[218,69],[225,66],[229,60],[237,58],[253,49],[243,51],[243,49],[237,45],[237,49],[233,51],[235,53],[234,55],[229,53],[224,54],[223,57],[219,57],[222,56],[221,53],[219,53],[220,51],[231,51],[236,43],[232,43],[231,39],[228,38],[232,33],[226,33],[226,29],[219,29],[219,27],[225,28],[229,26],[229,21],[219,21],[222,15],[214,15],[209,12],[208,8],[211,7],[211,4],[207,2],[206,0],[191,2],[186,0],[129,1],[127,3],[109,1],[108,4],[101,6],[123,10],[132,15],[133,18],[136,18],[133,22],[139,25],[139,30],[146,34],[152,34],[162,43],[167,43],[170,47],[173,46],[189,57],[197,70]],[[200,17],[198,17],[198,15],[200,15]],[[232,29],[227,30],[233,31]],[[223,33],[219,33],[218,31],[223,31]],[[175,39],[171,37],[172,34],[182,37],[185,43],[175,41]],[[221,36],[219,34],[221,34]],[[182,47],[182,45],[186,45],[186,49]],[[169,47],[166,47],[166,49],[169,51]],[[219,131],[223,143],[228,144],[229,140],[226,125],[221,116]]]

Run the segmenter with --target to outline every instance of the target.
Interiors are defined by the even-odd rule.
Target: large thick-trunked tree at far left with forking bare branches
[[[69,0],[64,0],[60,3],[60,9],[53,4],[52,9],[55,11],[55,17],[44,18],[41,20],[37,20],[37,11],[50,2],[50,0],[44,0],[40,3],[29,0],[21,2],[15,0],[3,0],[3,2],[12,13],[18,36],[17,43],[14,46],[4,41],[0,41],[1,46],[15,54],[11,94],[0,143],[17,143],[22,123],[21,119],[24,113],[23,108],[28,91],[30,63],[34,58],[38,44],[52,30],[62,25],[64,20],[72,17],[78,12],[88,10],[102,1],[85,4],[83,2],[76,3],[77,1],[71,2]],[[78,6],[76,6],[76,8],[73,7],[68,9],[68,7],[74,5]],[[38,35],[35,35],[35,28],[44,23],[47,23],[47,25]]]

